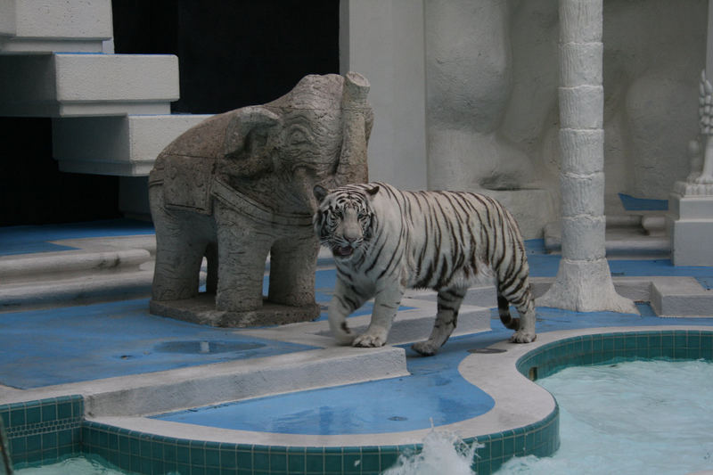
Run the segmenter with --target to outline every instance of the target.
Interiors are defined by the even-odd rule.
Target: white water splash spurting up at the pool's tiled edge
[[[475,475],[471,465],[481,445],[463,442],[452,432],[431,429],[423,438],[421,452],[399,455],[382,475]]]

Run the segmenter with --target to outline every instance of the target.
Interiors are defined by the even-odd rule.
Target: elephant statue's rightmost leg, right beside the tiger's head
[[[275,242],[270,254],[267,299],[295,307],[314,304],[318,250],[319,242],[312,233]]]

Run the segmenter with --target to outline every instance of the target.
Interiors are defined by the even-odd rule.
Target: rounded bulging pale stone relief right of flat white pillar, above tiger
[[[521,188],[532,164],[497,133],[512,93],[508,3],[430,0],[424,9],[429,187]]]

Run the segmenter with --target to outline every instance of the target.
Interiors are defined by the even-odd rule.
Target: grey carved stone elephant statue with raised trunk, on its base
[[[273,102],[202,121],[160,152],[149,176],[153,314],[215,326],[319,315],[312,190],[367,181],[368,91],[355,72],[310,75]]]

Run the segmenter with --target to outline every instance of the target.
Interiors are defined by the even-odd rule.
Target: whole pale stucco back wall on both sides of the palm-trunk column
[[[557,219],[549,195],[531,192],[559,192],[557,7],[553,0],[342,0],[349,13],[343,67],[373,86],[372,178],[496,190],[520,217],[537,199],[545,210],[533,225]],[[607,214],[620,212],[619,192],[666,199],[688,174],[707,12],[707,0],[604,0]],[[418,94],[426,112],[414,120],[422,103],[403,102]],[[422,125],[425,140],[414,141]]]

